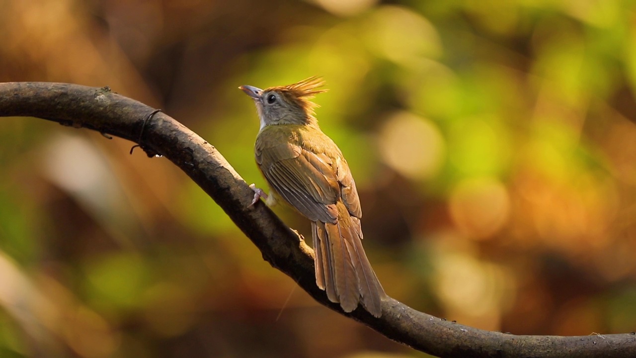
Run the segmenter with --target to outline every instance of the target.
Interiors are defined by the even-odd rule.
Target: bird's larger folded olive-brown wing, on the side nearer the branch
[[[315,154],[291,143],[257,146],[255,152],[265,179],[287,203],[309,220],[335,224],[340,182],[328,155]]]

